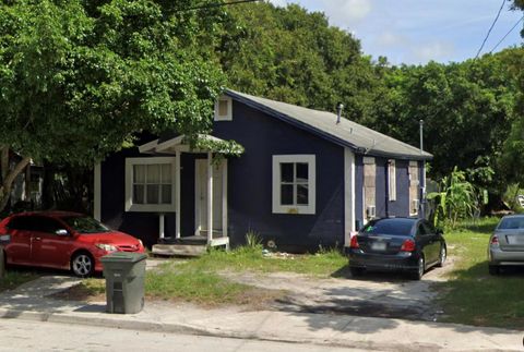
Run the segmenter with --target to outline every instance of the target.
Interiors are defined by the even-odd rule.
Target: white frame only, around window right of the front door
[[[281,163],[308,163],[308,205],[282,205],[281,202]],[[274,155],[273,156],[273,214],[314,214],[317,194],[315,156]],[[294,199],[296,202],[296,199]]]

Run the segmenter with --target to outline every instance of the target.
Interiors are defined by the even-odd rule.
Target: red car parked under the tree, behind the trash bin
[[[100,257],[111,252],[144,252],[142,241],[112,231],[82,214],[21,213],[0,222],[0,234],[10,234],[7,264],[73,271],[79,277],[102,271]]]

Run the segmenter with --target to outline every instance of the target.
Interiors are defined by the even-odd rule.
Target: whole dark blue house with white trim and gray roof
[[[168,254],[238,245],[249,231],[290,252],[348,244],[373,217],[419,216],[431,155],[340,116],[226,90],[207,141],[166,134],[95,167],[95,217]]]

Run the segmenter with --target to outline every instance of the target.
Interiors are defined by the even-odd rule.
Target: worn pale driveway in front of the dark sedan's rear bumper
[[[432,287],[446,280],[453,263],[449,257],[443,268],[430,269],[420,281],[394,272],[367,272],[356,279],[347,267],[329,279],[289,272],[226,275],[237,282],[287,291],[273,306],[278,311],[437,321],[442,311]]]

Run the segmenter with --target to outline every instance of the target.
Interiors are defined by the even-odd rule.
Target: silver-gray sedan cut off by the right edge
[[[524,265],[524,215],[503,217],[489,238],[489,274],[497,275],[501,266]]]

